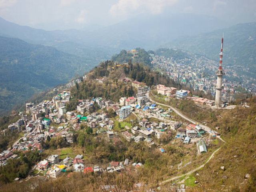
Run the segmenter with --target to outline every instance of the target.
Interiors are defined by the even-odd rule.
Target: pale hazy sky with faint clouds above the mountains
[[[256,22],[256,0],[0,0],[0,16],[46,30],[108,26],[141,13],[196,13]]]

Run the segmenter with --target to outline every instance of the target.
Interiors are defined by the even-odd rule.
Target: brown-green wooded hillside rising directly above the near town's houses
[[[113,67],[114,69],[108,70],[108,67]],[[122,78],[125,77],[143,82],[147,86],[152,86],[157,82],[176,86],[176,83],[168,78],[168,76],[150,71],[148,67],[138,63],[132,64],[132,62],[128,62],[128,65],[119,65],[114,64],[113,61],[106,61],[91,70],[87,76],[88,78],[85,81],[71,89],[74,107],[76,106],[75,102],[79,99],[104,97],[118,101],[123,96],[134,96],[136,89],[126,86],[122,82]],[[104,78],[104,83],[99,83],[96,80],[98,78]],[[72,104],[72,101],[70,104]]]

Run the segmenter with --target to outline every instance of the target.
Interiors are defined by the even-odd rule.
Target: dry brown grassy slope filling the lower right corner
[[[218,118],[227,143],[196,176],[207,189],[256,191],[256,97],[250,99],[249,105],[250,109],[237,106],[222,111]]]

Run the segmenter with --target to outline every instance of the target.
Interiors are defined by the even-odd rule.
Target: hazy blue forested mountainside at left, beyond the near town
[[[0,37],[0,114],[35,92],[67,82],[89,69],[78,56]]]

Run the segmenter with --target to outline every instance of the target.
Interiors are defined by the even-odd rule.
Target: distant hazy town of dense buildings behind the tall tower
[[[217,83],[215,71],[218,67],[218,64],[215,61],[209,60],[203,56],[196,56],[195,58],[184,56],[182,59],[177,59],[174,57],[166,58],[164,56],[151,54],[151,57],[152,64],[158,68],[163,68],[168,76],[176,82],[190,86],[193,90],[200,90],[205,94],[211,93],[212,96],[215,96]],[[236,76],[234,67],[231,68],[230,66],[225,66],[225,69],[227,71],[227,76]],[[206,75],[206,73],[212,75]],[[230,81],[226,78],[223,79],[222,85],[223,101],[232,100],[234,94],[239,93],[240,87],[245,88],[252,94],[255,94],[256,92],[256,86]]]

